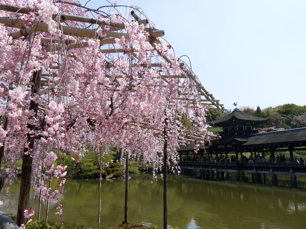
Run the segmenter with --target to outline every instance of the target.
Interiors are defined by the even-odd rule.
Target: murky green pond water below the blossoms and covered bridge
[[[149,175],[129,180],[129,223],[155,224],[162,228],[163,185]],[[54,180],[52,187],[57,185]],[[16,215],[20,181],[10,189],[10,202],[2,193],[2,211]],[[125,181],[102,180],[101,228],[122,223]],[[64,221],[98,227],[99,180],[67,179],[62,194]],[[32,202],[37,219],[38,201]],[[56,206],[48,220],[59,221]],[[45,219],[46,205],[41,210]],[[181,229],[305,229],[306,191],[236,182],[202,181],[185,176],[168,176],[168,224]]]

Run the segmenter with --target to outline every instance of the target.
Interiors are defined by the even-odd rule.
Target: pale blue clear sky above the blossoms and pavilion
[[[255,109],[306,104],[306,1],[117,3],[142,8],[226,108],[233,109],[233,102]],[[87,6],[105,4],[91,0]]]

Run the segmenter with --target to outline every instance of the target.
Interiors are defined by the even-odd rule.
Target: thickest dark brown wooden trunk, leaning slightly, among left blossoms
[[[41,78],[41,70],[35,71],[32,78],[32,96],[39,92]],[[30,102],[29,110],[34,110],[35,117],[37,116],[38,104],[33,100]],[[35,131],[35,125],[27,125],[27,128]],[[28,147],[24,147],[24,154],[22,160],[20,193],[17,209],[17,224],[25,224],[24,210],[28,209],[30,199],[31,177],[32,177],[32,155],[34,153],[34,133],[28,133]],[[25,154],[26,153],[26,154]]]

